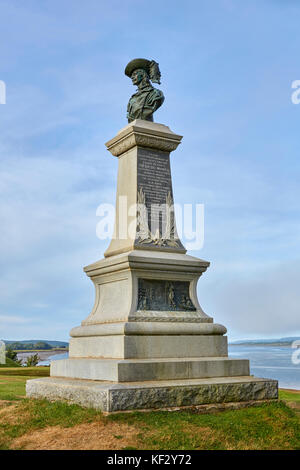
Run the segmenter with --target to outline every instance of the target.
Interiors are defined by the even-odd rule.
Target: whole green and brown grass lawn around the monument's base
[[[286,402],[215,414],[185,410],[104,416],[77,405],[26,399],[26,380],[49,375],[49,368],[19,375],[24,369],[15,369],[18,375],[0,370],[0,449],[300,449],[299,415],[288,406],[299,403],[300,393],[282,390]]]

